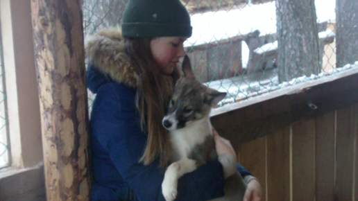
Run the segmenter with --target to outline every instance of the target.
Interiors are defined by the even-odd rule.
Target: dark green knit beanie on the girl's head
[[[192,30],[179,0],[130,0],[121,28],[123,37],[190,37]]]

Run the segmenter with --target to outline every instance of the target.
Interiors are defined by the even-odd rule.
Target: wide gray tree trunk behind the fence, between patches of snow
[[[314,0],[276,0],[278,80],[320,71]]]

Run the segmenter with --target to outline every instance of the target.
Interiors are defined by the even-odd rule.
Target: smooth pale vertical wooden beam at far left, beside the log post
[[[31,14],[30,1],[3,0],[0,4],[1,59],[6,72],[1,89],[1,100],[6,98],[2,103],[5,106],[1,105],[1,117],[4,118],[1,118],[1,125],[6,125],[1,132],[5,134],[8,130],[10,134],[9,164],[28,168],[43,160],[33,28],[28,17]]]

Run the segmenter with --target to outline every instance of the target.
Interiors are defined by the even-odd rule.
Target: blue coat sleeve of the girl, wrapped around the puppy
[[[164,169],[159,168],[159,161],[148,166],[139,163],[146,146],[146,135],[142,133],[133,110],[134,95],[126,87],[114,88],[109,85],[97,94],[101,98],[96,103],[96,110],[101,112],[94,128],[101,133],[99,141],[138,200],[164,200],[161,189]],[[223,167],[216,160],[180,178],[177,200],[218,198],[223,196],[223,186]]]

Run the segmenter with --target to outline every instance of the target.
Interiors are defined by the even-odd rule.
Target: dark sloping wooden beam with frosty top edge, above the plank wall
[[[358,103],[357,70],[343,71],[218,108],[212,112],[212,125],[237,147],[301,119],[312,119],[348,107]],[[308,103],[316,105],[316,110]]]

